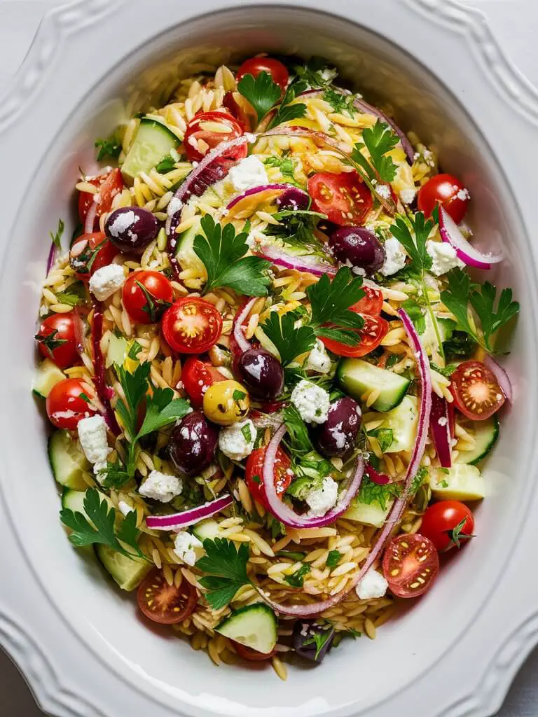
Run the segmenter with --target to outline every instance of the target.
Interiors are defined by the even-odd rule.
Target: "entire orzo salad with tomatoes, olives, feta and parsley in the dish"
[[[35,336],[71,543],[280,678],[476,539],[511,402],[519,304],[467,272],[502,259],[468,189],[337,77],[253,57],[98,139],[114,166],[77,181],[65,255],[51,234]]]

